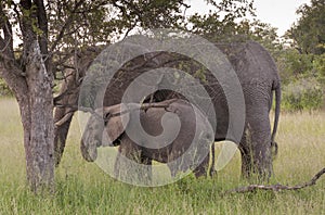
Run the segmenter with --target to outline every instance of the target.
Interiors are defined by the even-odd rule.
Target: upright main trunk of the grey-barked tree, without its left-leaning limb
[[[50,189],[54,181],[52,79],[37,41],[27,58],[28,102],[21,102],[27,180],[31,190]]]

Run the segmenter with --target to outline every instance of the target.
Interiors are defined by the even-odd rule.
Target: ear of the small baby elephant
[[[104,117],[107,118],[105,129],[110,140],[108,144],[113,143],[125,131],[130,121],[130,113],[126,110],[122,104],[109,108],[107,111],[104,109]]]

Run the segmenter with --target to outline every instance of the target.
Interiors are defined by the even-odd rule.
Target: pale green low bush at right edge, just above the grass
[[[283,88],[282,108],[286,111],[320,110],[324,89],[315,78],[303,78]]]

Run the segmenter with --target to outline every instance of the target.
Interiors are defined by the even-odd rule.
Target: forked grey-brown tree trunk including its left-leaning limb
[[[52,79],[46,69],[38,41],[35,40],[29,48],[26,73],[13,59],[0,54],[0,76],[13,90],[20,105],[28,186],[35,192],[53,190]]]

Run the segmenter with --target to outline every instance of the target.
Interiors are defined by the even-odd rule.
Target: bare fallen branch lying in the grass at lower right
[[[301,185],[297,185],[297,186],[284,186],[284,185],[269,185],[269,186],[264,186],[264,185],[250,185],[247,187],[239,187],[236,189],[232,189],[229,191],[225,191],[222,195],[225,194],[230,194],[230,193],[244,193],[244,192],[252,192],[256,190],[272,190],[272,191],[282,191],[282,190],[299,190],[306,187],[310,187],[316,184],[316,180],[318,180],[321,178],[321,176],[325,174],[325,167],[320,170],[310,181],[301,184]]]

